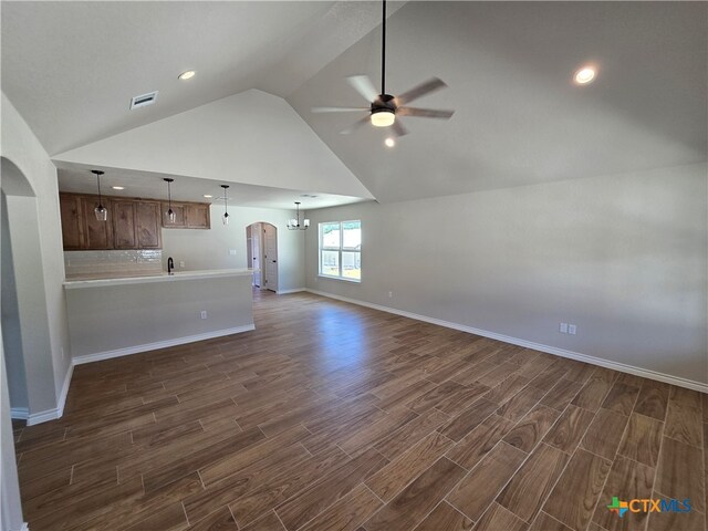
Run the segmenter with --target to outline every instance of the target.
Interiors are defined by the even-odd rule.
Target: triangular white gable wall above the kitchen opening
[[[250,90],[52,158],[371,198],[283,98]]]

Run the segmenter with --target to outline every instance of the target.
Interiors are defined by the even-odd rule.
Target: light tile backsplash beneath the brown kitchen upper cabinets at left
[[[64,269],[67,280],[159,274],[163,271],[163,251],[64,251]]]

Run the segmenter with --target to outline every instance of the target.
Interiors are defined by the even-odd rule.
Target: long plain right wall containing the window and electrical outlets
[[[310,211],[362,220],[363,278],[317,279],[313,230],[306,285],[705,385],[707,197],[702,164]]]

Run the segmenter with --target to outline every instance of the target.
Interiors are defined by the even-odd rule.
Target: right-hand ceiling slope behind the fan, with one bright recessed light
[[[358,118],[347,75],[377,74],[375,30],[288,97],[382,202],[614,175],[707,159],[708,3],[409,2],[387,27],[391,94],[436,75],[394,149]],[[571,82],[593,62],[594,83]]]

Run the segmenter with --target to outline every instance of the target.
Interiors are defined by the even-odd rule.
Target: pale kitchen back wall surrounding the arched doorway
[[[271,208],[229,207],[229,225],[223,226],[223,205],[211,206],[211,229],[163,229],[163,269],[173,257],[177,271],[240,269],[249,264],[246,228],[259,221],[278,228],[278,289],[304,288],[304,238],[301,230],[288,230],[290,211]],[[236,250],[231,256],[230,250]],[[179,268],[179,262],[185,268]]]

